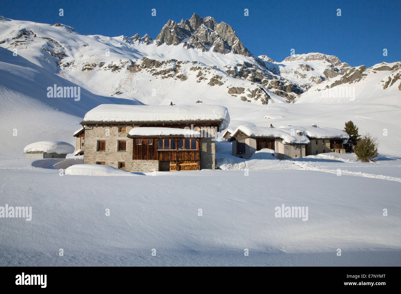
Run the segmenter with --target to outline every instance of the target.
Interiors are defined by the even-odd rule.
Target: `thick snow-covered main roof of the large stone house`
[[[89,110],[83,122],[230,122],[228,109],[220,105],[121,105],[101,104]]]

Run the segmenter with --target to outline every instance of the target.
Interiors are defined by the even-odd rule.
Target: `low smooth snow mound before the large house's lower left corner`
[[[75,164],[65,169],[65,174],[76,176],[134,176],[124,170],[103,164]]]

